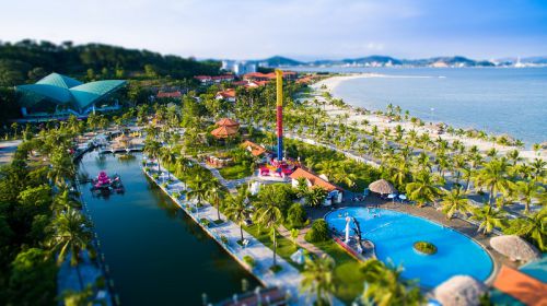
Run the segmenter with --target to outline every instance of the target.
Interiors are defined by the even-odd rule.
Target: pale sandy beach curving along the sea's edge
[[[347,80],[361,79],[361,78],[387,78],[387,76],[382,75],[382,74],[373,74],[373,73],[356,73],[356,74],[348,74],[348,75],[331,76],[331,78],[322,80],[322,81],[312,85],[312,89],[315,90],[314,98],[317,98],[318,101],[325,101],[325,98],[321,95],[323,92],[327,91],[327,92],[331,93],[333,90],[336,89],[336,86],[338,86],[340,83],[342,83]],[[326,90],[321,89],[323,85],[326,86]],[[447,133],[438,136],[437,133],[433,133],[432,130],[428,129],[427,126],[415,127],[409,121],[389,122],[387,120],[387,118],[385,118],[385,117],[381,117],[381,116],[376,116],[376,115],[359,115],[352,108],[341,109],[341,108],[337,108],[337,107],[327,105],[325,107],[325,109],[326,109],[327,114],[330,115],[331,117],[335,117],[336,115],[339,115],[339,114],[347,113],[350,115],[348,122],[357,121],[358,127],[360,127],[362,129],[366,129],[366,130],[370,130],[370,127],[372,127],[374,125],[379,127],[379,130],[383,130],[387,127],[393,129],[397,125],[400,125],[406,131],[415,129],[419,133],[423,133],[423,132],[429,133],[431,139],[437,139],[440,137],[440,138],[447,140],[450,142],[457,139],[466,146],[476,145],[480,151],[488,151],[491,148],[496,148],[496,150],[498,150],[500,154],[504,154],[508,151],[517,149],[515,146],[505,146],[505,145],[494,144],[490,141],[485,141],[485,140],[480,140],[480,139],[474,139],[474,138],[467,138],[467,137],[456,137],[456,136],[453,137],[453,136],[450,136]],[[370,122],[368,127],[361,125],[363,119],[366,119]],[[540,157],[543,160],[547,158],[546,150],[540,150],[537,153],[534,152],[533,150],[525,150],[525,149],[517,149],[517,150],[521,152],[521,156],[523,158],[527,158],[527,160],[533,160],[536,157]]]

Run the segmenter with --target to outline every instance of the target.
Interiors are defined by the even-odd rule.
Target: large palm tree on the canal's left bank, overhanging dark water
[[[69,208],[53,221],[51,234],[47,240],[47,245],[58,251],[57,263],[59,266],[67,256],[70,256],[70,264],[77,268],[81,289],[83,289],[83,281],[78,264],[81,260],[80,252],[90,250],[90,242],[93,237],[90,228],[89,220],[78,210]]]

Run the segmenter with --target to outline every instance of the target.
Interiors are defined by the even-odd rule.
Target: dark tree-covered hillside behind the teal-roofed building
[[[0,86],[34,82],[50,72],[90,81],[159,75],[175,79],[218,74],[220,62],[163,56],[149,50],[66,42],[0,42]]]

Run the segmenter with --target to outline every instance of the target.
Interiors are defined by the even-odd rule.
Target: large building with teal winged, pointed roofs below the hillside
[[[82,83],[72,78],[51,73],[36,84],[19,85],[21,113],[25,118],[78,117],[91,111],[118,109],[112,95],[126,84],[123,80]],[[102,105],[97,105],[102,103]]]

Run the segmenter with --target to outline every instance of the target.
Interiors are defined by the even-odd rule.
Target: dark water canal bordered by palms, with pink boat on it
[[[117,173],[124,195],[98,198],[82,186],[101,248],[121,304],[201,305],[202,293],[218,302],[258,282],[202,232],[140,169],[141,154],[85,154],[80,173]]]

